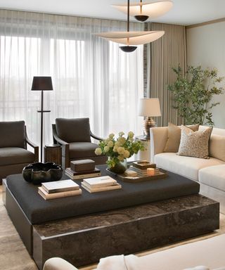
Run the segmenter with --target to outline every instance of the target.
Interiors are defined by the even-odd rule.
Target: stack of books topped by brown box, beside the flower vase
[[[100,169],[95,167],[94,160],[73,160],[65,174],[72,180],[101,176]]]

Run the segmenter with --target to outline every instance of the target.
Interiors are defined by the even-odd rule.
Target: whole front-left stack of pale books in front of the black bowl
[[[42,183],[38,188],[38,193],[44,200],[51,200],[80,195],[82,189],[74,181],[68,179]]]

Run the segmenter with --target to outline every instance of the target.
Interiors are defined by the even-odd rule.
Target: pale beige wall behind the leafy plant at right
[[[219,76],[225,76],[225,22],[189,28],[187,34],[188,65],[217,68]],[[225,82],[222,83],[225,86]],[[225,94],[215,96],[220,101],[213,108],[215,127],[225,128]]]

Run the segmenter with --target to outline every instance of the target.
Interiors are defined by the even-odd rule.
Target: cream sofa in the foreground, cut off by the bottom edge
[[[136,257],[113,256],[100,260],[96,270],[224,270],[225,234],[195,243]],[[91,269],[91,267],[89,268]],[[77,270],[64,259],[51,258],[44,270]]]

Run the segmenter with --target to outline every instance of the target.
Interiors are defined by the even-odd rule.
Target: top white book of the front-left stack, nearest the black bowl
[[[47,193],[56,193],[56,192],[63,192],[63,191],[75,191],[79,189],[79,185],[77,185],[74,181],[68,180],[60,180],[60,181],[51,181],[41,183],[42,188]]]

